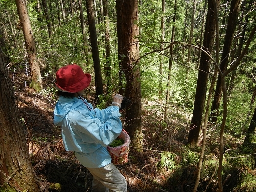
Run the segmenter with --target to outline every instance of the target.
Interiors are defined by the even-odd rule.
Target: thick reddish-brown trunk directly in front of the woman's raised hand
[[[121,6],[121,7],[119,7]],[[142,149],[142,129],[141,129],[141,79],[139,67],[139,44],[138,35],[138,1],[137,0],[117,0],[117,12],[121,17],[122,32],[122,69],[126,77],[125,96],[132,101],[131,106],[126,111],[125,130],[131,138],[131,145]],[[117,17],[119,19],[119,17]],[[119,40],[119,38],[118,38]],[[119,44],[119,41],[118,41]],[[119,53],[120,54],[120,53]]]

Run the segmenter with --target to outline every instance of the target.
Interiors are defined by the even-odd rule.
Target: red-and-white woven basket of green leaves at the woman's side
[[[111,156],[111,162],[114,165],[120,165],[128,162],[129,144],[131,142],[128,133],[123,129],[120,136],[124,143],[116,147],[106,147]]]

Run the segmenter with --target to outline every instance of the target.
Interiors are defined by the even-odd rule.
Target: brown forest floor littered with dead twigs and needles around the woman
[[[57,102],[53,79],[44,79],[45,91],[36,93],[29,88],[29,78],[23,72],[15,72],[10,74],[10,77],[41,191],[91,191],[91,174],[79,163],[73,152],[65,151],[61,128],[53,125],[53,110]],[[89,101],[93,100],[94,91],[91,87],[86,96]],[[163,106],[158,102],[143,102],[143,152],[138,152],[130,146],[129,162],[117,165],[127,180],[129,192],[174,191],[170,181],[173,170],[161,166],[161,154],[165,151],[182,153],[188,136],[190,117],[185,112],[173,108],[170,109],[170,120],[163,123],[161,110]],[[218,155],[218,144],[211,147],[214,156]],[[175,162],[182,161],[179,155],[175,158]],[[186,181],[181,184],[181,188],[187,188],[184,191],[193,188],[194,173],[195,167],[187,167],[187,175],[184,176]],[[61,189],[56,183],[61,185]]]

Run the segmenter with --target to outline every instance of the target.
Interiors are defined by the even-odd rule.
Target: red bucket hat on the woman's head
[[[91,82],[91,75],[84,73],[82,68],[71,64],[60,68],[56,72],[56,88],[63,92],[76,93],[87,88]]]

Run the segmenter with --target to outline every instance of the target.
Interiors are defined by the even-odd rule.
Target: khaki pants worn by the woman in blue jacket
[[[100,168],[87,168],[93,176],[92,192],[126,192],[125,177],[112,163]]]

